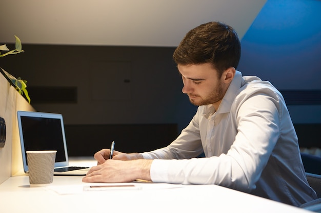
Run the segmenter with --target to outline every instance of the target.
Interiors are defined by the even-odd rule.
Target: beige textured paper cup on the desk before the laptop
[[[52,183],[56,152],[26,151],[30,185]]]

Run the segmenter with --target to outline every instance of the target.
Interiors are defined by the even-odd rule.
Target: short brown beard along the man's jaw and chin
[[[224,97],[222,83],[218,81],[215,88],[204,98],[198,96],[197,94],[189,94],[189,96],[196,97],[190,98],[190,102],[195,106],[214,104],[222,100]]]

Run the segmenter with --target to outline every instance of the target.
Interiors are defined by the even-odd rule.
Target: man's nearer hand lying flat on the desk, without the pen
[[[83,182],[132,182],[136,179],[151,181],[150,166],[153,160],[113,159],[104,159],[104,163],[92,167],[87,175],[83,178]]]

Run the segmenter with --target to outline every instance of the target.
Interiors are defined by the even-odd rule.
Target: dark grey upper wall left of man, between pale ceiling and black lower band
[[[23,44],[23,49],[2,58],[2,67],[28,81],[37,111],[62,113],[66,124],[177,123],[182,129],[195,112],[182,93],[174,48]],[[48,96],[47,86],[76,88],[76,103],[33,103],[31,89]]]

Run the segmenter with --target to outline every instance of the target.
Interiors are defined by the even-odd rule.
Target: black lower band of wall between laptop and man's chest
[[[92,156],[110,148],[122,152],[145,152],[166,147],[177,137],[177,124],[66,125],[70,156]]]

